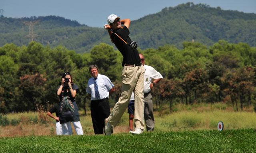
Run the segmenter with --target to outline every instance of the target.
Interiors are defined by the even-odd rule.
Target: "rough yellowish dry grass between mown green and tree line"
[[[244,111],[235,112],[232,106],[224,103],[174,105],[172,113],[168,105],[154,110],[155,131],[180,131],[198,129],[217,129],[219,121],[224,123],[226,129],[243,129],[256,127],[256,114],[253,107],[245,107]],[[84,135],[94,135],[90,111],[83,115],[80,111],[80,122]],[[55,120],[46,116],[46,112],[25,112],[7,114],[9,126],[0,126],[0,137],[14,137],[27,135],[55,135]],[[18,124],[12,121],[18,120]],[[16,126],[14,126],[16,125]],[[72,124],[73,134],[76,135]],[[129,132],[129,114],[124,112],[114,133]]]

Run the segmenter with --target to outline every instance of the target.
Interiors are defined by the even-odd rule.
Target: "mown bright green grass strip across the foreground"
[[[0,153],[253,153],[254,129],[0,138]]]

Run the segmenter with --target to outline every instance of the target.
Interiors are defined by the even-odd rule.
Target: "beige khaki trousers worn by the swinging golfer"
[[[124,66],[122,70],[122,93],[115,104],[108,123],[116,126],[126,110],[132,91],[134,91],[134,122],[136,128],[145,129],[144,125],[144,66]]]

